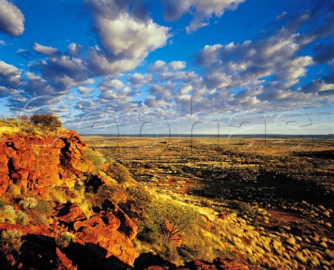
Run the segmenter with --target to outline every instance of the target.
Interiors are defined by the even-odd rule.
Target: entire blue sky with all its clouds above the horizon
[[[0,0],[0,116],[80,133],[334,133],[334,3]],[[243,123],[243,124],[241,124]],[[117,125],[116,125],[117,124]]]

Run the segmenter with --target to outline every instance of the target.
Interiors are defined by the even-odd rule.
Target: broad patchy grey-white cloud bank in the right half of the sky
[[[196,63],[204,67],[210,88],[256,86],[270,76],[288,88],[305,77],[307,67],[314,63],[311,56],[296,56],[300,48],[297,38],[280,30],[255,42],[207,45],[196,56]]]

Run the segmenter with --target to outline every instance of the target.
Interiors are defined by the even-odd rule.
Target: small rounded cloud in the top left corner
[[[8,35],[22,35],[24,31],[24,15],[13,3],[0,0],[0,31]]]

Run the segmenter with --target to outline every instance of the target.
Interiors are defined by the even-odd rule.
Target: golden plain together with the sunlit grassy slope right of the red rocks
[[[333,269],[333,139],[89,140],[152,193],[138,221],[142,252],[176,263],[221,256],[253,268]],[[175,221],[171,240],[173,214],[186,224]]]

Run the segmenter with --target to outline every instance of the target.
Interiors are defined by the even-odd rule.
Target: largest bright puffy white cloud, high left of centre
[[[133,70],[151,51],[164,47],[170,37],[168,27],[156,24],[147,15],[141,16],[136,8],[130,12],[130,1],[86,3],[102,42],[102,46],[90,50],[88,60],[95,67],[99,63],[101,73]]]

